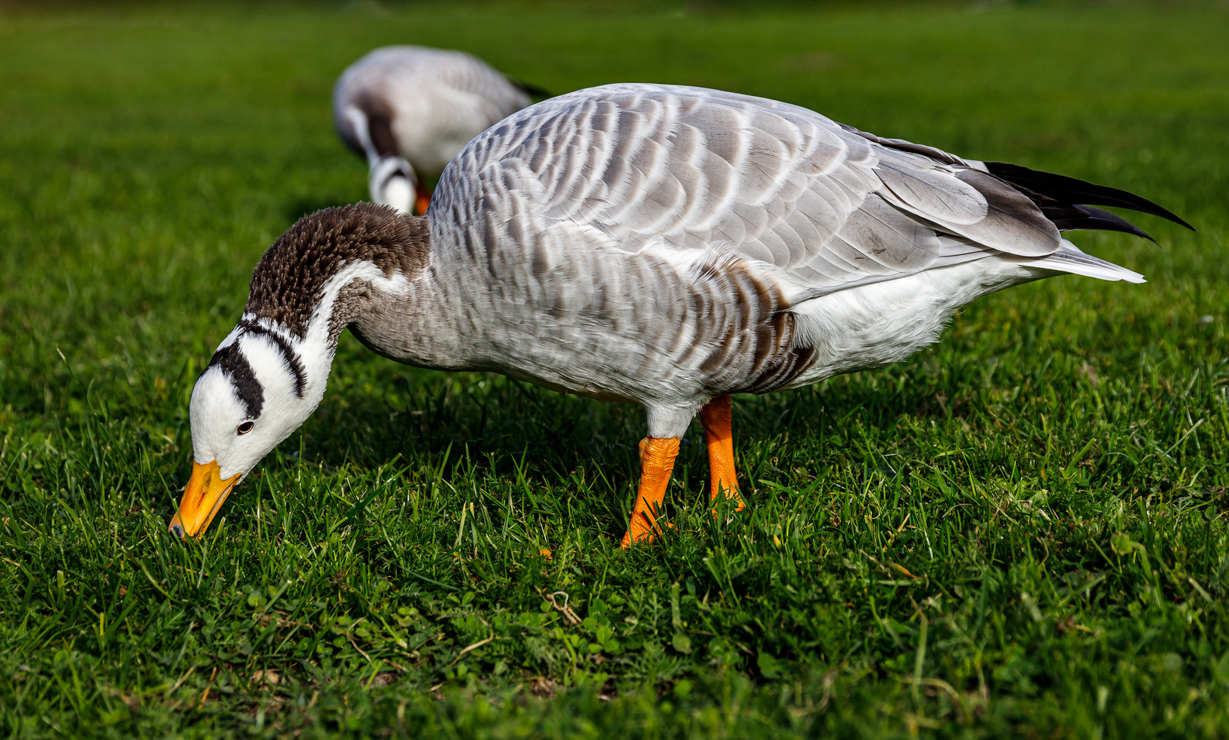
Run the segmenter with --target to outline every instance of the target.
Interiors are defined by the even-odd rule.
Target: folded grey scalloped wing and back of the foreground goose
[[[667,259],[771,265],[793,299],[1069,244],[981,162],[693,87],[608,85],[526,108],[457,155],[435,198],[433,215],[454,211],[471,248],[596,231]]]

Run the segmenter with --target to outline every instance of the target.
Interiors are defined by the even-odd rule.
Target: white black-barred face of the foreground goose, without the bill
[[[301,361],[296,376],[268,334],[237,328],[192,391],[193,458],[202,465],[216,460],[224,479],[246,475],[316,410],[323,388],[312,390]]]

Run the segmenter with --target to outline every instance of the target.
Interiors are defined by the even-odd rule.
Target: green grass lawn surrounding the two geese
[[[1223,2],[0,9],[0,731],[1229,735],[1227,38]],[[693,428],[675,534],[630,552],[639,409],[347,335],[175,541],[195,374],[272,239],[365,198],[328,94],[392,42],[775,97],[1201,231],[1078,236],[1150,282],[1013,288],[737,398],[747,511],[707,515]]]

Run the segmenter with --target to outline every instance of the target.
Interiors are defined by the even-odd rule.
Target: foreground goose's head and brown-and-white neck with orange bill
[[[243,317],[192,391],[192,476],[170,530],[199,536],[320,405],[337,339],[422,272],[425,220],[358,204],[305,216],[264,253]]]

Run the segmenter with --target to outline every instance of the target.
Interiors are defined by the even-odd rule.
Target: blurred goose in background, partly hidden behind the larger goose
[[[351,64],[333,87],[333,125],[366,157],[371,200],[426,212],[420,178],[439,177],[471,139],[530,104],[528,92],[465,52],[383,47]]]

